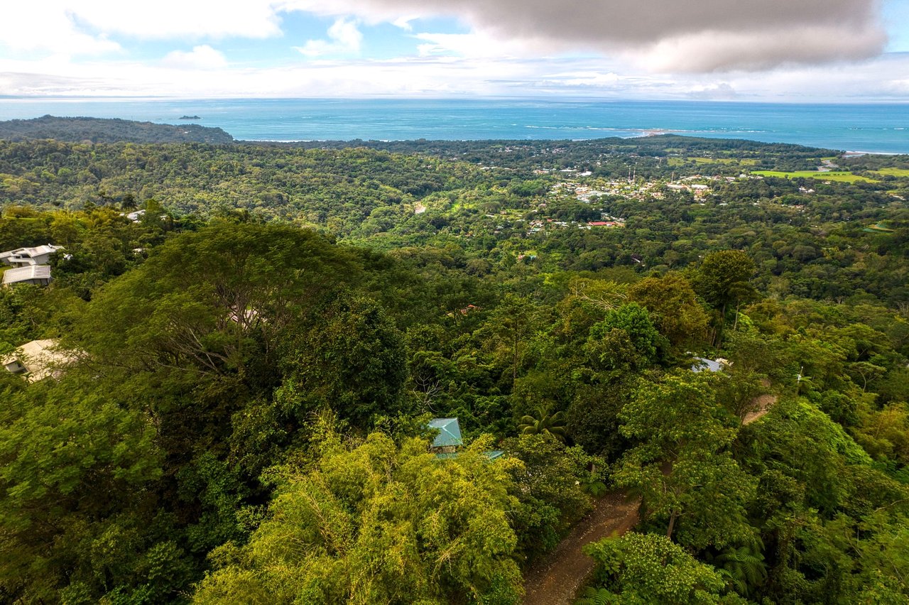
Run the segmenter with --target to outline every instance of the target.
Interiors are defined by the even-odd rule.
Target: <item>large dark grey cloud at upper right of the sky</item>
[[[309,4],[306,0],[302,0]],[[632,52],[654,69],[760,70],[879,55],[878,0],[341,0],[372,15],[454,15],[541,50]],[[316,9],[318,10],[318,9]]]

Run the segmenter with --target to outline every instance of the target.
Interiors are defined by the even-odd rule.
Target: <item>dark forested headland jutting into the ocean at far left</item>
[[[55,117],[0,121],[0,140],[55,139],[73,143],[234,143],[220,128],[198,124],[154,124],[119,118]]]

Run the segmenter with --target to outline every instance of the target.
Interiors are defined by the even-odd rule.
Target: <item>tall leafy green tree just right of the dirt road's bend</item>
[[[638,445],[625,452],[615,474],[620,485],[641,492],[647,516],[666,523],[667,538],[697,549],[753,535],[744,505],[754,480],[728,451],[736,431],[706,373],[644,382],[619,415],[620,430]]]

